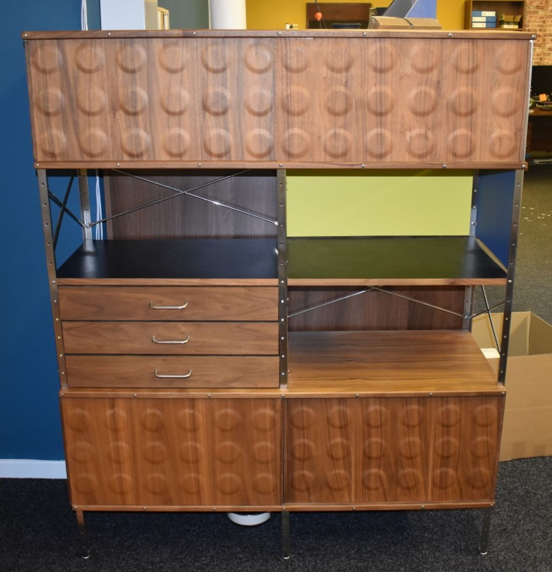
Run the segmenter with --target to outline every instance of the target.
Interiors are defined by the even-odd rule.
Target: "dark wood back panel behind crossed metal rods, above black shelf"
[[[234,172],[195,169],[140,171],[135,174],[179,190],[189,190]],[[105,174],[108,216],[176,194],[115,171],[106,171]],[[270,220],[277,218],[274,170],[249,171],[198,189],[194,194]],[[277,228],[274,224],[195,197],[180,196],[113,219],[108,224],[108,234],[112,239],[273,238],[277,235]]]

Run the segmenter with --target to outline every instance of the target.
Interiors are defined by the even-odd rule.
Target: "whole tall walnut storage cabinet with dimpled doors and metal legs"
[[[23,40],[84,553],[92,510],[281,512],[287,557],[292,511],[470,507],[485,552],[531,36]],[[472,169],[470,235],[288,239],[290,168]],[[55,169],[77,175],[80,214]],[[109,240],[86,169],[104,170]],[[57,265],[64,217],[84,240]],[[487,284],[505,287],[498,378],[470,333]]]

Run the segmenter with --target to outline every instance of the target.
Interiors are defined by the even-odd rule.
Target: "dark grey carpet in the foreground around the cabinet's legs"
[[[64,480],[0,480],[2,572],[550,572],[552,457],[500,463],[490,549],[478,551],[481,510],[291,514],[240,527],[224,514],[86,513],[90,558]]]

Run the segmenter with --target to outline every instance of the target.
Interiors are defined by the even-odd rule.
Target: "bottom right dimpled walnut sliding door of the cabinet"
[[[503,405],[492,396],[290,399],[286,503],[491,500]]]

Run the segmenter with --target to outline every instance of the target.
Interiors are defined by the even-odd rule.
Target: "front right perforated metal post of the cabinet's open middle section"
[[[512,205],[512,223],[510,227],[510,251],[508,253],[508,272],[506,275],[506,302],[504,303],[502,335],[500,337],[498,383],[504,383],[504,380],[506,379],[506,363],[508,359],[508,345],[510,343],[510,323],[512,321],[512,301],[514,297],[515,260],[518,252],[519,214],[521,213],[523,170],[516,170],[514,185],[514,204]]]

